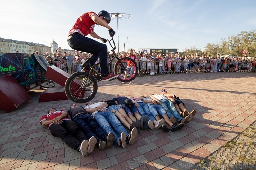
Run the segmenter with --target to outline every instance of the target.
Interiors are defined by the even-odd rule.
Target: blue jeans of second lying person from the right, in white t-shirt
[[[181,121],[182,117],[177,112],[172,101],[167,99],[162,99],[160,101],[161,101],[161,105],[164,107],[164,110],[167,112],[168,117],[174,116],[178,122]]]

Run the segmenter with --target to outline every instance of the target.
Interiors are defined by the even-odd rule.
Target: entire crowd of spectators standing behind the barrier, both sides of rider
[[[211,56],[195,53],[193,55],[182,56],[177,52],[176,54],[156,53],[155,51],[150,53],[134,52],[136,56],[138,74],[172,74],[172,73],[191,73],[191,72],[255,72],[256,58],[247,57],[233,57],[233,56]],[[38,54],[38,53],[37,53]],[[118,53],[117,53],[118,54]],[[62,54],[61,48],[59,48],[53,56],[45,53],[45,59],[50,65],[66,71],[69,74],[81,71],[81,64],[90,57],[91,54],[75,51],[75,55],[71,55],[70,52],[64,52]],[[111,53],[108,52],[107,56]],[[120,58],[129,56],[129,52],[121,52],[118,54]],[[108,59],[108,64],[112,58]],[[97,60],[96,63],[99,61]],[[113,73],[113,67],[115,61],[110,64],[109,71]],[[100,72],[100,67],[95,68]]]

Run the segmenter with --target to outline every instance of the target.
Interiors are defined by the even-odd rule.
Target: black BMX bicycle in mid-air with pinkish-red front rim
[[[110,64],[117,59],[114,65],[114,73],[118,74],[117,79],[121,82],[130,82],[134,80],[137,76],[138,67],[136,62],[129,58],[129,57],[123,57],[119,58],[117,54],[115,53],[116,45],[113,40],[113,37],[111,40],[107,40],[112,47],[112,54],[107,57],[107,59],[112,58],[111,61],[108,64],[108,68],[110,67]],[[112,41],[112,42],[111,42]],[[112,45],[113,43],[113,45]],[[95,67],[99,66],[100,63],[95,64],[94,66],[91,66],[90,61],[92,58],[88,58],[83,64],[82,67],[90,66],[89,73],[87,72],[76,72],[72,74],[65,83],[65,93],[68,99],[75,103],[86,103],[92,100],[97,93],[98,90],[98,84],[97,82],[102,80],[102,75],[98,73],[95,70]],[[134,66],[134,74],[132,76],[127,76],[125,78],[125,73],[127,72],[126,66],[127,62],[130,62]],[[91,73],[95,73],[94,76],[91,75]]]

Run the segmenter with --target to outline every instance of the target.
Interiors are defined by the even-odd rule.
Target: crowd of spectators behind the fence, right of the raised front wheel
[[[172,74],[190,72],[255,72],[255,58],[225,57],[195,53],[183,54],[136,53],[139,74]]]

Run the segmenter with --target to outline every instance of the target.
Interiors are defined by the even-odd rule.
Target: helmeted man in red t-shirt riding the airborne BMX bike
[[[100,68],[102,73],[102,81],[108,81],[118,77],[118,74],[111,74],[107,67],[107,46],[99,43],[91,38],[86,37],[88,34],[93,38],[100,39],[106,43],[107,39],[98,36],[94,32],[95,25],[106,27],[109,30],[109,35],[113,37],[115,31],[108,25],[111,21],[110,14],[107,11],[100,11],[98,15],[94,12],[86,12],[80,16],[71,30],[68,32],[68,45],[77,51],[91,53],[92,60],[90,64],[93,66],[99,58]],[[86,66],[83,71],[89,73],[89,66]]]

